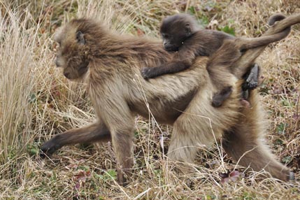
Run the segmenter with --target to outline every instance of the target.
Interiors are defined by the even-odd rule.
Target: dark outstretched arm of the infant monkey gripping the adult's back
[[[162,76],[164,74],[183,71],[192,66],[192,62],[195,57],[197,57],[197,54],[194,51],[182,47],[178,52],[176,52],[176,55],[174,55],[171,62],[155,67],[144,67],[141,70],[141,75],[143,78],[148,79]]]

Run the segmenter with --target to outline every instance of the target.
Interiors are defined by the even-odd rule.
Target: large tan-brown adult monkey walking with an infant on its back
[[[298,22],[300,15],[287,17],[266,34],[277,34]],[[223,136],[225,150],[239,160],[239,164],[251,166],[256,171],[265,169],[281,180],[294,178],[290,169],[274,158],[262,140],[265,130],[261,124],[263,113],[257,92],[250,91],[251,109],[238,103],[243,80],[236,80],[248,71],[248,66],[264,47],[247,50],[234,62],[232,67],[238,70],[231,78],[232,83],[236,83],[233,92],[224,105],[216,109],[210,103],[213,85],[206,71],[206,57],[196,59],[186,71],[146,81],[140,73],[143,66],[159,66],[173,57],[159,42],[133,36],[120,37],[87,19],[65,24],[55,41],[60,45],[57,66],[62,67],[66,78],[85,77],[97,121],[55,135],[42,145],[43,153],[51,155],[64,145],[111,140],[120,164],[117,177],[124,183],[124,173],[129,174],[134,163],[134,116],[138,113],[148,117],[150,109],[158,122],[173,125],[168,152],[173,160],[193,162],[199,149],[197,145],[210,145],[215,137]],[[232,50],[236,52],[236,48]],[[41,155],[45,156],[43,153]]]

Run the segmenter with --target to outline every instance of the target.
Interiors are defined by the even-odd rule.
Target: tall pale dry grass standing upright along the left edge
[[[19,154],[33,136],[31,98],[36,96],[36,83],[41,78],[37,69],[48,59],[47,42],[39,43],[41,24],[34,22],[29,10],[4,9],[0,21],[1,164]]]

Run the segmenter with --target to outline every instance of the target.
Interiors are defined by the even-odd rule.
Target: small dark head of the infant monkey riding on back
[[[177,51],[195,31],[197,23],[191,15],[177,14],[164,18],[160,26],[164,49]]]

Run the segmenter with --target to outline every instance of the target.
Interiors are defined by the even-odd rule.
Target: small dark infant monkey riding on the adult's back
[[[276,15],[271,20],[282,20],[284,15]],[[276,18],[276,19],[275,19]],[[222,31],[208,29],[199,29],[196,20],[191,15],[177,14],[164,18],[160,27],[164,49],[170,52],[177,52],[173,60],[161,66],[143,68],[141,74],[143,78],[155,78],[168,73],[176,73],[189,68],[194,59],[198,56],[208,56],[206,69],[208,70],[210,80],[215,86],[217,92],[213,94],[212,105],[214,107],[222,106],[222,103],[230,96],[232,92],[232,83],[226,79],[231,74],[230,66],[242,55],[248,48],[255,48],[260,45],[268,45],[273,41],[278,41],[283,36],[278,35],[273,38],[262,36],[259,38],[236,38]],[[228,45],[227,41],[236,41],[238,45],[236,52],[240,55],[234,59],[227,59],[226,52],[222,54],[220,50],[222,45]],[[230,43],[230,45],[235,43]],[[220,53],[221,52],[221,53]],[[255,64],[247,74],[245,74],[245,84],[243,91],[252,90],[257,87],[257,77],[259,76],[259,67]]]

